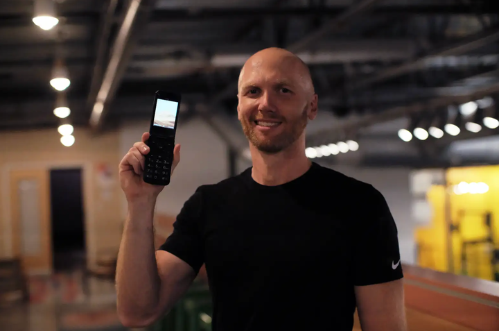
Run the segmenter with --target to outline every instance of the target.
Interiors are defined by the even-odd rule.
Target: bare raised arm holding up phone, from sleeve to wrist
[[[116,268],[117,310],[129,328],[148,326],[168,312],[189,288],[189,264],[153,244],[153,203],[129,205]]]

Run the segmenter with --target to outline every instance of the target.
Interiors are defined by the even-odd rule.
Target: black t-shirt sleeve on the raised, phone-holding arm
[[[173,232],[159,249],[172,253],[189,264],[198,274],[204,263],[202,241],[203,201],[201,189],[184,203],[173,223]]]

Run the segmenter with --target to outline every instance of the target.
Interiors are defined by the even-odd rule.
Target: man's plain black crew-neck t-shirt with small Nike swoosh
[[[385,198],[315,162],[279,186],[251,173],[200,186],[160,249],[206,265],[215,331],[352,330],[354,286],[403,277]]]

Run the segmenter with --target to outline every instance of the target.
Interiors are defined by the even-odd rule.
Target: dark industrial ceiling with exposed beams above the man
[[[400,142],[397,130],[499,92],[495,1],[58,0],[48,31],[33,23],[37,1],[0,1],[0,130],[57,127],[64,94],[71,123],[98,133],[148,119],[154,92],[174,90],[182,119],[221,133],[214,118],[237,125],[240,67],[268,46],[310,66],[322,112],[310,146]],[[49,84],[56,64],[71,80],[64,92]]]

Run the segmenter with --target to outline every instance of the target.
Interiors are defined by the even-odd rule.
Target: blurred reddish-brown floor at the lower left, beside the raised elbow
[[[114,282],[78,272],[31,280],[30,302],[1,307],[0,325],[2,331],[128,330],[116,316]]]

